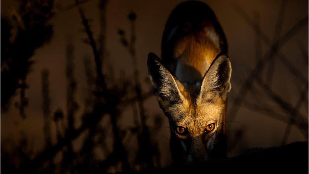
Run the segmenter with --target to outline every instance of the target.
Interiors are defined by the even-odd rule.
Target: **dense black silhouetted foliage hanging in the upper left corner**
[[[53,28],[49,23],[53,16],[53,0],[18,1],[18,7],[11,5],[12,16],[5,19],[5,45],[1,50],[1,76],[6,85],[1,91],[1,107],[4,107],[17,89],[20,89],[19,113],[25,118],[24,107],[28,105],[25,97],[27,75],[33,63],[34,50],[50,40]],[[1,22],[2,22],[1,21]],[[14,38],[8,33],[14,33]]]

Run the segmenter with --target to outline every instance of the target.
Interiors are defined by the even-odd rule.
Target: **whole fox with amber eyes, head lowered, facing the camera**
[[[149,53],[147,66],[169,121],[173,163],[226,158],[231,62],[225,34],[207,4],[186,1],[174,8],[163,31],[161,58]]]

